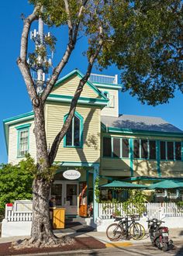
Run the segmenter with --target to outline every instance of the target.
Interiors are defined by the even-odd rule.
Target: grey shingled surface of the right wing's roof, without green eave
[[[102,116],[102,123],[107,127],[147,130],[165,133],[183,133],[182,130],[167,123],[160,117],[120,115],[119,117]]]

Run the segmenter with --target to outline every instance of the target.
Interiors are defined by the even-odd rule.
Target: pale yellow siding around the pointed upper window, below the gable
[[[51,145],[54,137],[64,123],[64,115],[69,111],[70,104],[47,103],[47,144]],[[84,118],[83,148],[64,147],[60,143],[55,161],[99,162],[100,161],[100,129],[101,110],[94,106],[77,106],[76,111]]]

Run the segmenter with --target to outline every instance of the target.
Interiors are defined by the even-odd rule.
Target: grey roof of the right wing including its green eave
[[[166,135],[168,133],[171,136],[180,135],[183,137],[182,130],[160,117],[120,115],[119,117],[102,116],[101,119],[103,128],[110,132],[166,133]]]

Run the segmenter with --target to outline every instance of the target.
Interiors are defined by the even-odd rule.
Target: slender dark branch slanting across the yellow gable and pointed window
[[[69,110],[67,119],[65,120],[64,125],[62,126],[62,129],[60,130],[60,132],[57,133],[57,136],[55,137],[54,142],[51,146],[50,154],[49,154],[50,164],[53,164],[54,159],[57,155],[57,150],[60,145],[60,142],[61,142],[61,140],[63,140],[65,134],[67,133],[69,126],[71,125],[71,120],[74,116],[74,112],[75,112],[75,109],[76,109],[76,106],[78,103],[78,99],[81,95],[81,92],[83,91],[83,87],[84,87],[85,83],[88,81],[88,78],[91,74],[91,70],[92,70],[93,64],[95,62],[95,59],[96,59],[96,57],[98,57],[98,54],[102,48],[102,44],[104,42],[102,27],[99,28],[99,37],[100,37],[100,40],[98,42],[98,47],[96,47],[95,53],[91,55],[91,57],[88,61],[88,68],[87,68],[86,74],[83,78],[81,78],[78,88],[74,92],[74,97],[71,101],[71,106],[70,106],[70,110]]]

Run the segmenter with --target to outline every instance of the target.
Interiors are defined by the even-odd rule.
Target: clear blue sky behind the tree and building
[[[4,130],[2,120],[16,116],[25,112],[31,111],[31,104],[26,92],[26,85],[22,80],[19,68],[16,65],[16,58],[19,57],[19,42],[22,33],[22,19],[21,13],[29,14],[32,6],[26,0],[16,1],[1,1],[0,2],[0,24],[1,24],[1,100],[0,100],[0,163],[7,162],[7,153],[5,149]],[[37,23],[35,24],[35,26]],[[56,32],[56,31],[55,31]],[[60,58],[60,54],[65,48],[67,33],[65,29],[59,29],[56,32],[57,52],[54,61]],[[82,55],[82,50],[85,50],[86,40],[81,38],[78,41],[78,46],[74,49],[67,67],[64,68],[60,77],[72,71],[74,68],[85,73],[86,59]],[[33,44],[32,44],[33,47]],[[92,71],[98,73],[95,69]],[[109,67],[103,74],[120,74],[120,71],[115,67]],[[119,112],[130,115],[140,116],[160,116],[167,120],[167,122],[178,126],[183,130],[183,119],[181,114],[183,109],[182,95],[180,92],[176,93],[174,99],[171,99],[169,104],[164,104],[157,107],[142,105],[132,98],[128,92],[119,95]]]

